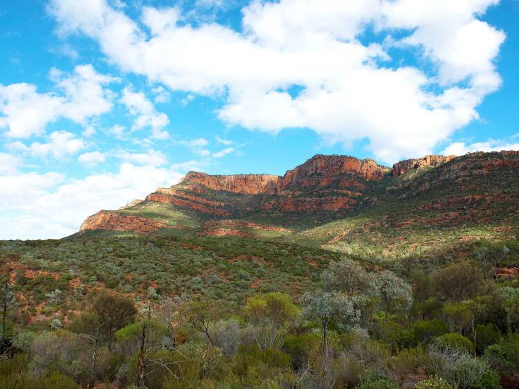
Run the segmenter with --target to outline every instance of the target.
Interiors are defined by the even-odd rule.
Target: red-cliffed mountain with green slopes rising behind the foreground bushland
[[[519,152],[425,156],[392,169],[370,159],[316,155],[282,177],[190,172],[143,201],[89,217],[80,234],[284,237],[402,257],[515,236],[518,190]]]

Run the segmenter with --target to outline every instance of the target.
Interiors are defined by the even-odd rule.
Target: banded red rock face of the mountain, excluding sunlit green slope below
[[[398,179],[423,168],[429,169]],[[371,159],[316,155],[282,177],[190,172],[181,183],[158,188],[144,201],[98,212],[81,231],[148,233],[167,226],[202,226],[203,235],[253,236],[252,230],[268,231],[253,221],[294,228],[302,220],[314,225],[385,206],[406,212],[396,216],[394,226],[488,223],[516,214],[518,189],[516,151],[428,155],[395,163],[392,170]]]

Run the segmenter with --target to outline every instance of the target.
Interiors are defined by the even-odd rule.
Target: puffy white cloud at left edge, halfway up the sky
[[[71,75],[53,69],[56,92],[38,93],[33,84],[0,84],[0,128],[7,136],[28,138],[42,134],[58,118],[85,124],[87,118],[111,110],[112,93],[103,86],[116,78],[95,72],[93,66],[75,66]]]

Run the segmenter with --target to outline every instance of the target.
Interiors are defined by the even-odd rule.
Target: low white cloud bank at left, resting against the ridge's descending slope
[[[100,209],[117,209],[159,186],[179,182],[175,170],[122,163],[115,174],[68,179],[61,174],[0,177],[0,239],[46,239],[70,235]],[[17,216],[10,215],[17,211]],[[3,213],[8,212],[8,213]]]

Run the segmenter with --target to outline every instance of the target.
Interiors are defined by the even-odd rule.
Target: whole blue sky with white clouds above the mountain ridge
[[[190,170],[519,150],[517,0],[0,0],[0,239]]]

